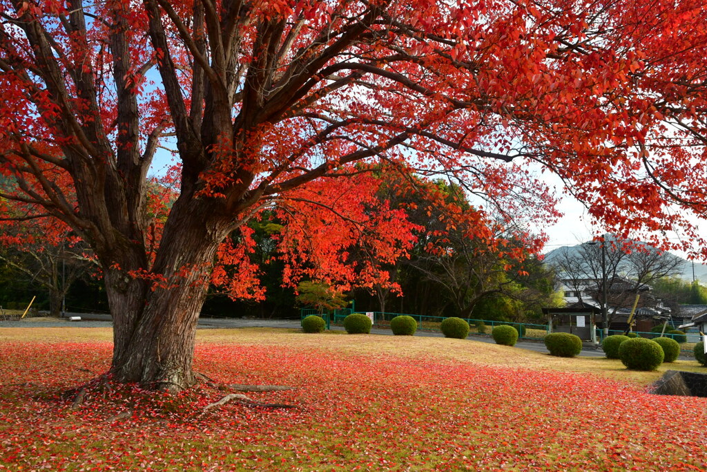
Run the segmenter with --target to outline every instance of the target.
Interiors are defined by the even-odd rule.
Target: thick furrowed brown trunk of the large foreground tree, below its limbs
[[[177,201],[149,277],[117,268],[107,272],[115,380],[171,392],[194,384],[197,321],[218,244],[226,236],[226,225],[212,214],[206,202]],[[135,262],[130,265],[141,267]]]

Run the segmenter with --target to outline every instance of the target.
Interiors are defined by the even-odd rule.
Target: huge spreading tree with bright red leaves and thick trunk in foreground
[[[178,391],[224,238],[361,161],[500,204],[539,185],[512,161],[539,161],[609,225],[691,231],[670,202],[705,209],[705,17],[701,0],[2,0],[0,171],[18,185],[0,196],[92,246],[115,378]],[[155,246],[163,139],[180,194]]]

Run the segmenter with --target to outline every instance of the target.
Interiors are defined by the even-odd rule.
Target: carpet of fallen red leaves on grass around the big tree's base
[[[299,408],[203,413],[223,392],[112,386],[71,409],[60,393],[104,372],[110,352],[105,341],[0,341],[0,469],[664,471],[707,459],[707,399],[433,352],[201,343],[199,372],[294,386],[248,396]]]

